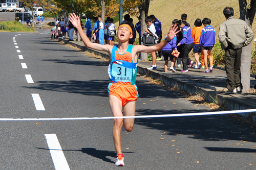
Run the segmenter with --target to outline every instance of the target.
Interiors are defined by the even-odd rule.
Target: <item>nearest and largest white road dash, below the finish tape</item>
[[[45,134],[46,141],[52,156],[52,161],[56,170],[68,170],[69,164],[63,154],[56,134]]]

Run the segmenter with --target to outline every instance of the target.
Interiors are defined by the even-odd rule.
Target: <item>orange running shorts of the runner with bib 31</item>
[[[126,102],[136,101],[139,94],[136,85],[123,85],[118,83],[110,83],[108,87],[109,95],[115,95],[122,102],[122,106]]]

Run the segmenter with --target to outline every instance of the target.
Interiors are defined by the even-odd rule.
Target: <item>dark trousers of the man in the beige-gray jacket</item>
[[[234,88],[242,87],[241,83],[241,54],[242,48],[234,49],[229,45],[225,49],[225,69],[227,74],[227,89],[233,92]]]

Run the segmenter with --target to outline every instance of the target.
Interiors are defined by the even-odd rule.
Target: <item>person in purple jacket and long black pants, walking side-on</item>
[[[188,72],[188,67],[191,67],[194,63],[188,57],[189,52],[192,50],[194,46],[194,41],[193,41],[192,32],[188,23],[184,20],[179,20],[178,23],[179,23],[179,27],[182,30],[183,38],[177,44],[177,46],[184,44],[183,50],[181,51],[181,54],[180,54],[183,59],[183,70],[181,70],[181,72]]]

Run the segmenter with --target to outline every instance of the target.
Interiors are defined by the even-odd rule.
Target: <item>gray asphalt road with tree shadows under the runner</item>
[[[50,35],[0,33],[0,118],[112,116],[108,64]],[[136,84],[136,115],[211,111],[142,77]],[[0,169],[120,169],[112,126],[113,120],[1,121]],[[122,169],[256,169],[254,131],[226,115],[136,118],[131,133],[121,132]]]

